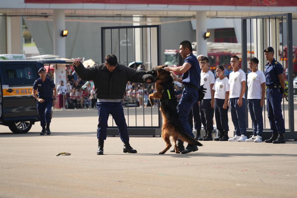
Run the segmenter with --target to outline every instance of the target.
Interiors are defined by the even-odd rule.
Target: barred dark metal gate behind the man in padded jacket
[[[160,65],[160,30],[159,25],[101,27],[102,63],[105,62],[106,55],[114,54],[119,63],[134,69],[148,71]],[[126,90],[122,101],[129,135],[161,135],[159,102],[156,108],[151,107],[147,100],[147,95],[153,92],[154,84],[135,83],[134,87],[134,93]],[[140,91],[136,90],[137,87]],[[138,106],[140,104],[142,106]],[[107,135],[119,135],[111,115],[108,119]]]

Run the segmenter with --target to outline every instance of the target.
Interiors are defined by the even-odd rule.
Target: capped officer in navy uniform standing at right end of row
[[[282,65],[274,59],[274,49],[267,47],[264,55],[268,61],[265,66],[267,114],[272,136],[266,143],[286,143],[285,122],[282,117],[282,98],[285,93],[285,80]]]

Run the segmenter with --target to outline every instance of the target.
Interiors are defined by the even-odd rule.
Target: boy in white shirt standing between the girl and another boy
[[[235,136],[230,142],[244,142],[247,139],[247,123],[245,121],[245,99],[246,76],[239,68],[238,56],[231,57],[233,72],[229,75],[230,95],[228,106],[231,111],[231,118],[234,125]]]

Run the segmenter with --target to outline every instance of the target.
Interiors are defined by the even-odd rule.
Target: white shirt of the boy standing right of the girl
[[[246,81],[245,73],[241,69],[237,72],[231,72],[229,74],[229,84],[230,84],[230,96],[229,98],[239,98],[241,94],[241,82]],[[244,94],[242,96],[244,98]]]

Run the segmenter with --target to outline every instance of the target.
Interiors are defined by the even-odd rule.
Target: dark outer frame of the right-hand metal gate
[[[247,19],[259,19],[259,18],[276,18],[276,17],[286,17],[287,23],[287,68],[288,68],[288,119],[289,119],[289,129],[286,129],[286,139],[287,140],[296,140],[297,132],[294,130],[294,94],[293,94],[293,68],[289,67],[293,64],[293,32],[292,32],[292,13],[284,14],[274,14],[274,15],[260,15],[260,16],[250,16],[250,17],[241,17],[241,41],[242,41],[242,60],[247,60]],[[270,30],[269,30],[270,31]],[[264,34],[264,33],[263,33]],[[255,43],[255,42],[254,42]],[[282,43],[284,46],[284,43]],[[265,46],[263,46],[264,48]],[[241,66],[244,72],[247,71],[247,61],[241,61]],[[264,68],[265,69],[265,68]],[[247,96],[247,89],[245,92]],[[247,102],[246,102],[247,104]],[[293,104],[293,105],[291,105]],[[284,109],[285,110],[285,109]],[[284,113],[283,110],[283,113]],[[265,111],[265,110],[264,110]],[[246,106],[246,120],[248,125],[248,110]],[[252,134],[253,129],[247,128],[248,135]],[[269,132],[269,133],[268,133]],[[271,136],[270,129],[263,130],[263,140],[269,139]]]

